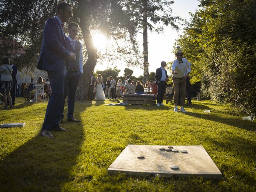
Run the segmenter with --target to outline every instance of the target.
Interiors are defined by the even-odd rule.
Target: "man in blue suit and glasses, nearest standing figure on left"
[[[48,138],[54,138],[50,131],[68,131],[60,127],[59,117],[64,95],[65,61],[67,58],[76,59],[76,54],[66,49],[66,36],[63,30],[64,22],[68,22],[72,14],[70,4],[59,2],[57,16],[48,18],[44,25],[37,68],[48,72],[52,88],[52,95],[40,131],[41,136]]]

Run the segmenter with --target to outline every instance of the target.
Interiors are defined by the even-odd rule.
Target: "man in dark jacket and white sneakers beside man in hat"
[[[166,81],[168,81],[167,71],[164,69],[166,67],[166,62],[161,62],[161,67],[156,69],[156,85],[157,85],[157,98],[156,98],[156,106],[164,105],[164,91],[166,86]]]

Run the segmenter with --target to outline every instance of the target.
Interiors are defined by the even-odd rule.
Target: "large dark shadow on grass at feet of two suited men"
[[[76,106],[74,116],[88,106]],[[71,131],[52,132],[54,139],[38,134],[0,160],[1,191],[60,191],[70,179],[84,142],[82,122],[62,126]]]

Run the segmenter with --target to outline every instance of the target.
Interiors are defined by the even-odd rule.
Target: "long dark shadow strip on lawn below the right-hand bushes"
[[[206,120],[212,120],[215,122],[223,123],[226,125],[234,126],[240,129],[246,129],[250,131],[255,131],[256,129],[256,124],[255,122],[250,122],[250,121],[244,121],[242,119],[231,119],[228,117],[221,117],[221,114],[201,114],[201,113],[186,113],[188,116],[192,116],[195,118],[201,118],[201,119],[206,119]]]

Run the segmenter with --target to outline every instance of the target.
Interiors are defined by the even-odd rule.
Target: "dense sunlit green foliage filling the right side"
[[[240,112],[256,111],[254,0],[204,0],[176,44],[193,64],[205,97]],[[243,13],[243,14],[241,14]]]

